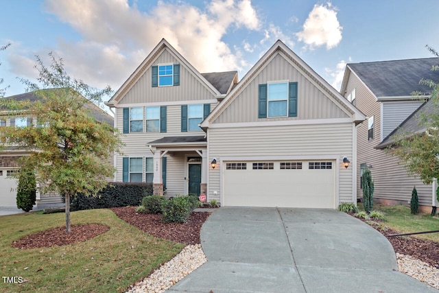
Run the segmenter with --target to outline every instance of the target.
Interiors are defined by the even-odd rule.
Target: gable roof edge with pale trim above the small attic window
[[[130,75],[128,80],[126,80],[126,82],[122,84],[122,86],[105,104],[110,107],[116,106],[119,100],[121,99],[121,97],[123,97],[123,95],[125,95],[131,89],[131,87],[134,86],[134,84],[141,78],[143,73],[145,73],[145,71],[147,71],[147,69],[149,69],[152,66],[152,63],[160,55],[161,51],[165,49],[171,52],[171,54],[174,55],[174,57],[178,59],[180,63],[185,66],[186,69],[191,71],[191,73],[193,73],[193,75],[195,75],[198,78],[198,80],[200,80],[200,82],[204,84],[204,86],[206,86],[206,88],[210,89],[210,91],[214,95],[216,95],[217,97],[223,96],[223,94],[215,86],[213,86],[211,82],[209,82],[200,72],[198,72],[197,69],[195,69],[195,67],[193,67],[189,62],[187,62],[187,60],[180,53],[178,53],[178,51],[176,51],[176,49],[174,49],[174,47],[172,47],[167,42],[167,40],[165,40],[165,38],[162,38],[160,43],[158,43],[156,47],[152,49],[151,53],[145,58],[145,60],[143,60],[143,62],[141,62],[139,67],[137,67],[137,69]],[[222,75],[212,75],[211,78],[222,89],[223,82],[225,82],[225,79],[220,78],[220,76]],[[233,80],[230,80],[230,82],[233,82]]]

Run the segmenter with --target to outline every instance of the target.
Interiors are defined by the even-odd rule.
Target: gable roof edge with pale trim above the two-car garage
[[[326,80],[324,80],[320,75],[316,73],[316,71],[313,71],[305,61],[303,61],[301,58],[299,58],[287,45],[285,45],[281,40],[277,40],[274,45],[268,49],[268,51],[258,60],[258,62],[244,75],[244,78],[241,79],[241,81],[236,84],[232,91],[226,95],[226,97],[213,109],[213,111],[209,114],[209,116],[204,119],[201,123],[201,128],[209,128],[209,125],[212,121],[214,121],[223,111],[225,108],[227,108],[228,105],[239,95],[239,93],[244,89],[244,87],[252,80],[259,71],[266,65],[268,62],[270,62],[272,56],[274,54],[281,51],[283,54],[285,54],[292,62],[294,62],[302,71],[305,71],[305,74],[309,76],[313,80],[313,82],[316,82],[324,90],[327,91],[327,93],[335,99],[339,104],[344,107],[351,115],[353,115],[353,119],[356,123],[360,123],[361,121],[364,121],[366,119],[366,116],[364,116],[363,113],[361,113],[360,110],[358,110],[353,104],[348,102],[339,92],[337,92]]]

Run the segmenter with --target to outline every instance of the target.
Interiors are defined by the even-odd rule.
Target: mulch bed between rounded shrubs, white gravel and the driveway
[[[161,215],[136,213],[136,207],[115,207],[111,209],[119,218],[152,236],[185,244],[200,244],[202,224],[211,213],[191,213],[185,223],[162,222]]]

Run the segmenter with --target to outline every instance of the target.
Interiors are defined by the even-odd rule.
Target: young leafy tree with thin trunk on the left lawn
[[[93,103],[102,104],[102,97],[112,92],[110,87],[98,90],[71,78],[62,59],[49,56],[49,68],[37,56],[40,85],[22,80],[38,99],[0,99],[0,106],[7,109],[4,113],[33,119],[33,126],[1,127],[0,146],[8,141],[8,145],[29,151],[29,156],[21,157],[21,165],[35,170],[40,192],[64,196],[66,231],[70,232],[70,198],[80,193],[96,196],[106,187],[105,178],[115,172],[108,161],[122,143],[115,128],[93,115],[103,111]]]

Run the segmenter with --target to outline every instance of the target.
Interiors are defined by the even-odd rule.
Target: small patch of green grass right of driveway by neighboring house
[[[361,204],[358,204],[363,209]],[[374,204],[373,209],[384,213],[385,226],[399,233],[414,233],[439,230],[438,216],[431,217],[429,213],[419,212],[417,215],[410,213],[410,207],[402,205]],[[418,239],[439,242],[439,233],[412,235]]]

